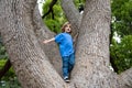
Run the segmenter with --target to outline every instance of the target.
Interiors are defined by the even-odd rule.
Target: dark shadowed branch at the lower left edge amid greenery
[[[0,79],[4,76],[4,74],[10,69],[11,67],[11,63],[10,59],[8,59],[4,64],[4,66],[2,67],[2,69],[0,70]]]

